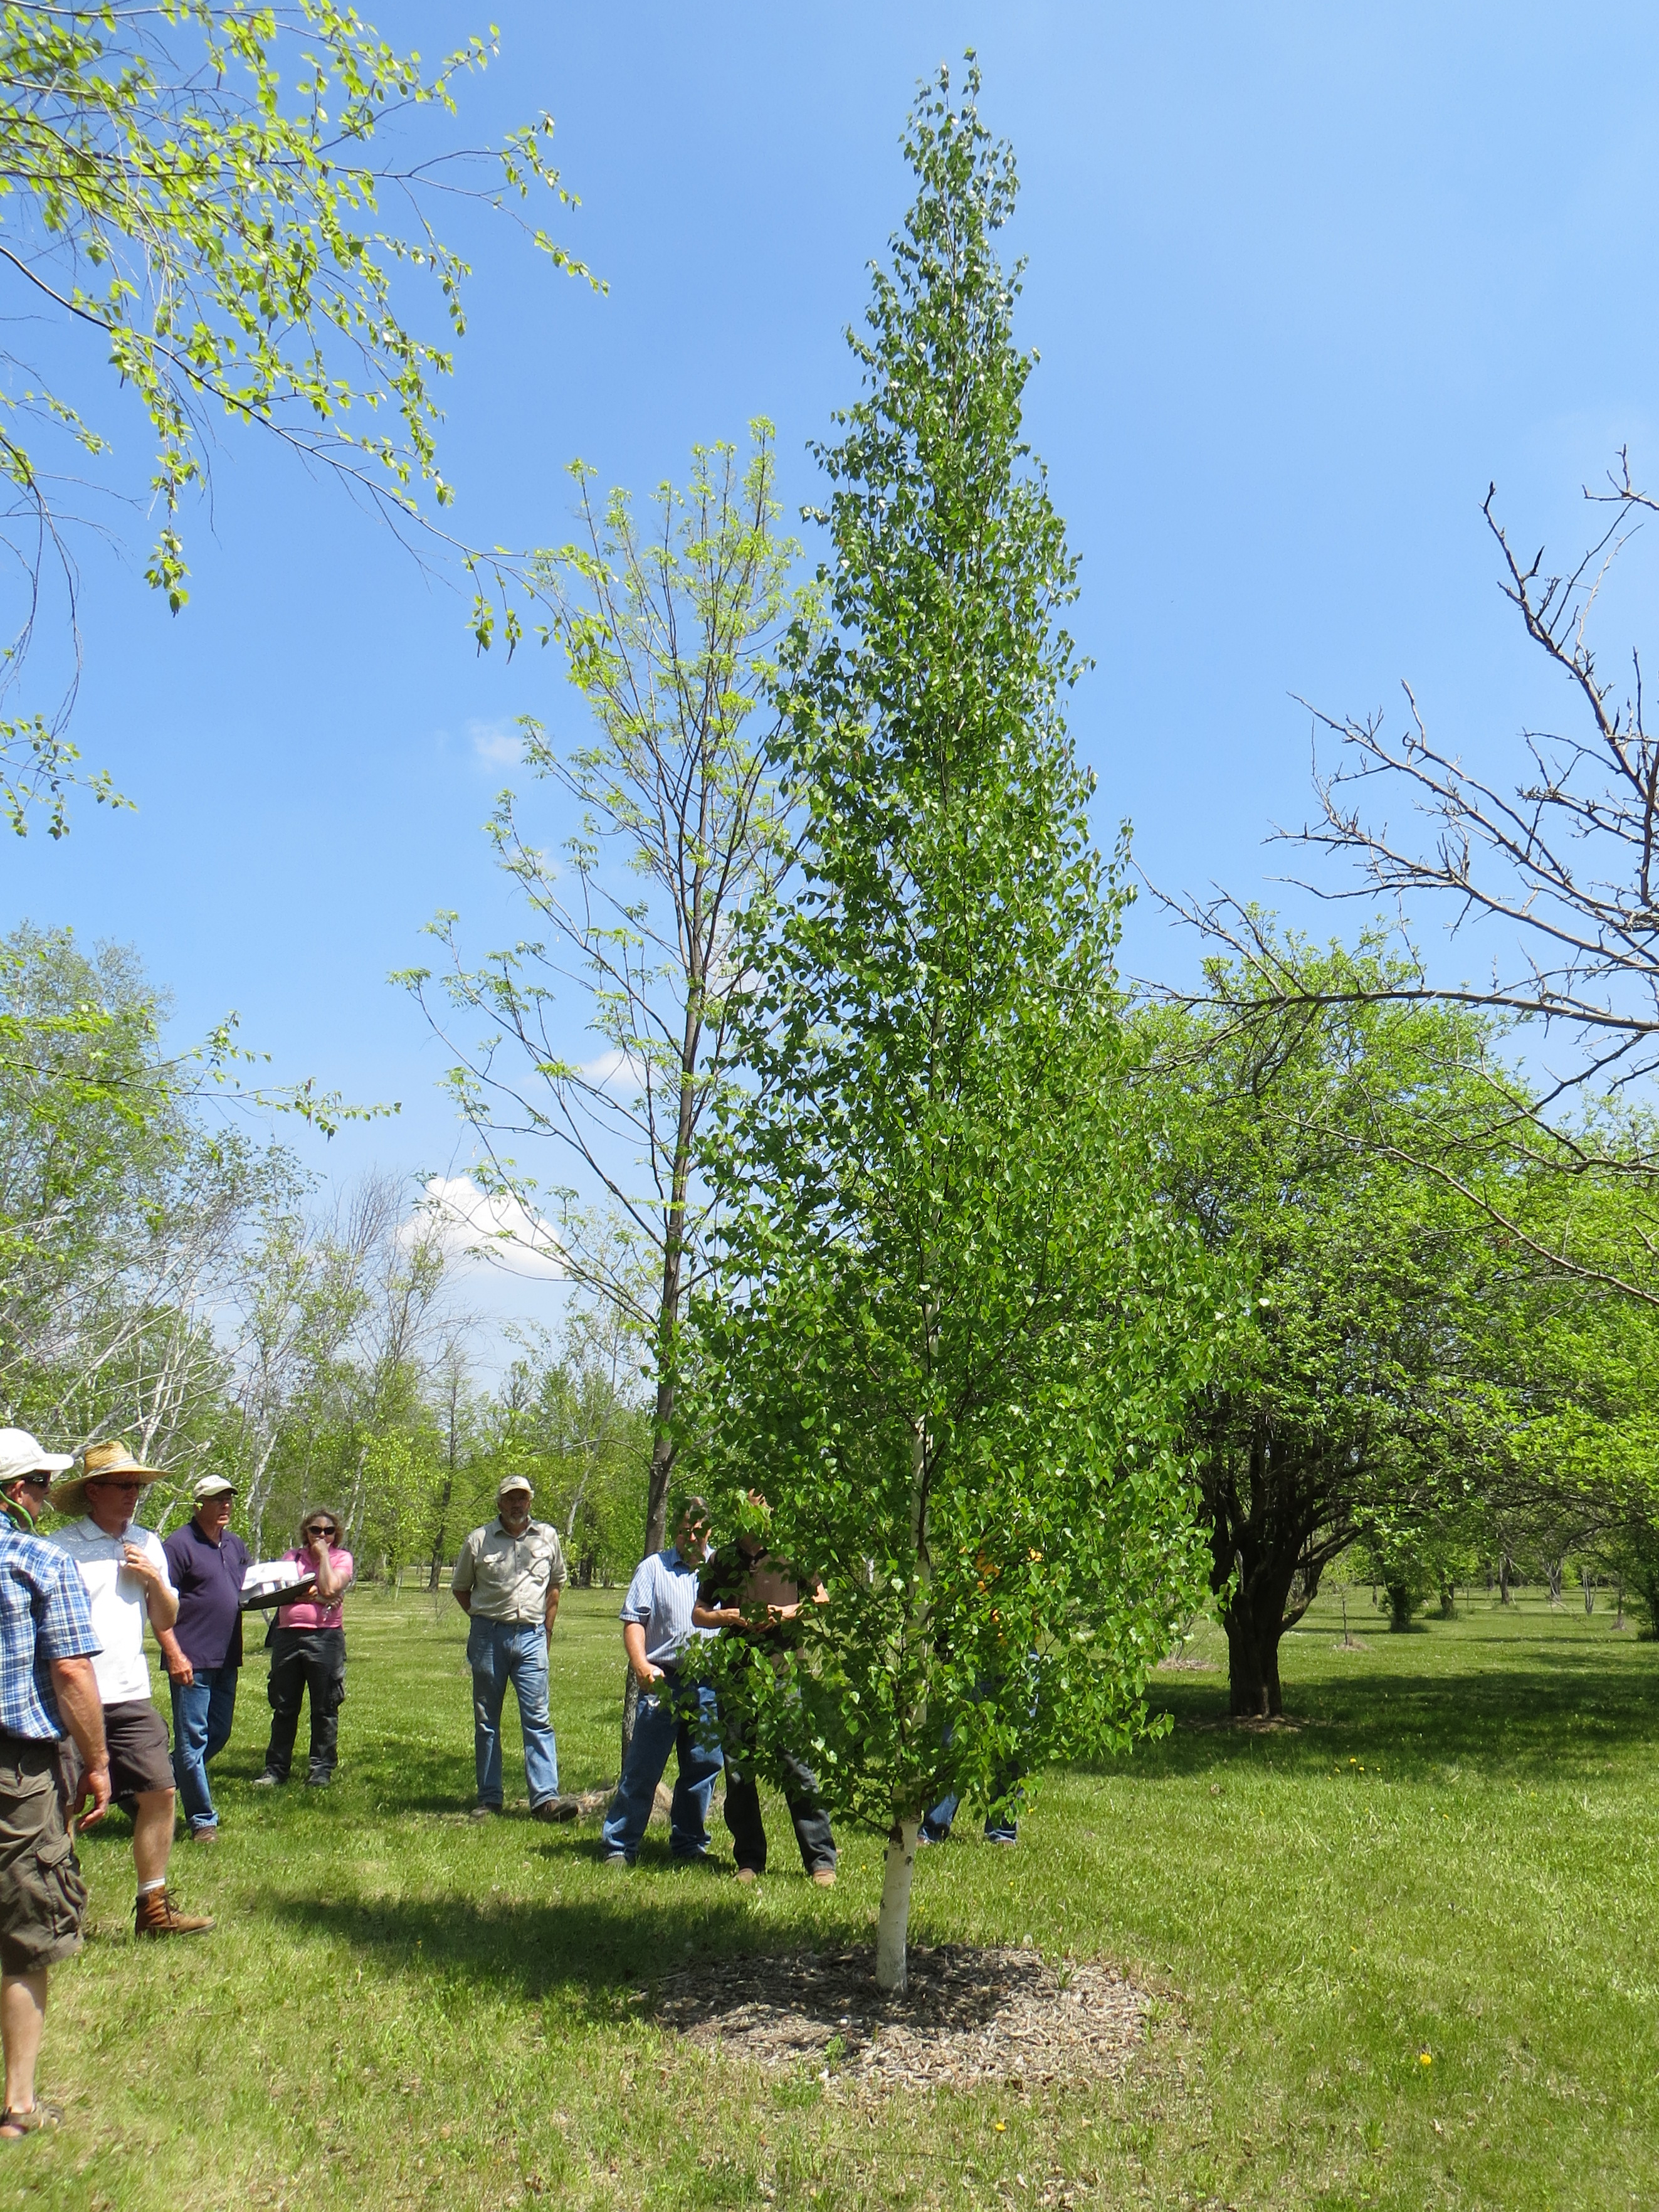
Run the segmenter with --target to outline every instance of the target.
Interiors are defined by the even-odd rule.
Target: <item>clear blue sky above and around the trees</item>
[[[378,24],[436,53],[484,13],[383,7]],[[493,13],[502,58],[462,128],[557,117],[584,201],[562,234],[611,290],[465,223],[478,274],[445,429],[460,531],[557,542],[571,456],[646,493],[761,411],[790,504],[812,495],[805,442],[852,392],[841,334],[907,204],[914,82],[973,44],[1024,179],[1029,427],[1084,560],[1075,628],[1097,670],[1073,728],[1102,836],[1128,816],[1155,880],[1283,898],[1261,841],[1305,812],[1294,692],[1394,708],[1409,675],[1433,728],[1491,761],[1562,708],[1498,597],[1480,500],[1495,478],[1517,535],[1568,551],[1579,487],[1619,445],[1659,480],[1652,11]],[[436,907],[478,949],[515,933],[480,834],[495,739],[520,712],[575,737],[575,703],[546,655],[480,661],[462,602],[248,442],[221,451],[188,542],[177,619],[142,560],[86,551],[75,734],[139,812],[82,807],[64,845],[7,849],[4,909],[135,942],[181,1031],[234,1006],[279,1077],[403,1102],[307,1148],[319,1164],[460,1170],[442,1055],[385,975],[420,958]],[[1608,648],[1641,635],[1650,582],[1637,560]],[[1133,969],[1190,958],[1137,916]]]

